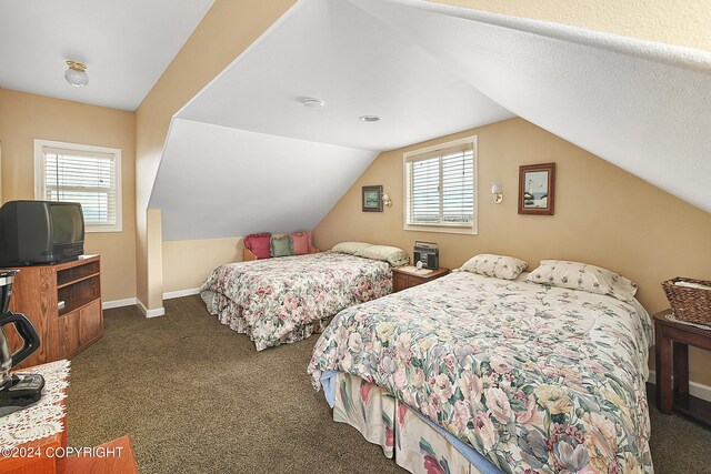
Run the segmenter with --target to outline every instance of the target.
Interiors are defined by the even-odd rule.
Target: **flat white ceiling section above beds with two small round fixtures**
[[[326,107],[304,109],[308,97]],[[513,114],[350,1],[310,0],[178,117],[384,151]]]

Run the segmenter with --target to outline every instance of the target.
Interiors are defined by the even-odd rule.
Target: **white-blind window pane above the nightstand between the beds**
[[[470,138],[405,154],[405,229],[475,231],[474,153]]]

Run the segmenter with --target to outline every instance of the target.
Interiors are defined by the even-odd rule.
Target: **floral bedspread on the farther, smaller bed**
[[[261,351],[321,332],[344,307],[391,291],[387,262],[322,252],[220,265],[200,295],[211,314]]]

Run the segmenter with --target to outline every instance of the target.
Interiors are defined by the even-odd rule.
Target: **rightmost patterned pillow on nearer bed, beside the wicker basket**
[[[610,270],[580,262],[541,260],[527,281],[553,286],[607,294],[631,302],[637,293],[637,283]]]

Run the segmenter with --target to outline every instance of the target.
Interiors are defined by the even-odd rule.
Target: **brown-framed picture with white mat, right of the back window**
[[[519,167],[519,214],[553,215],[555,163]]]

